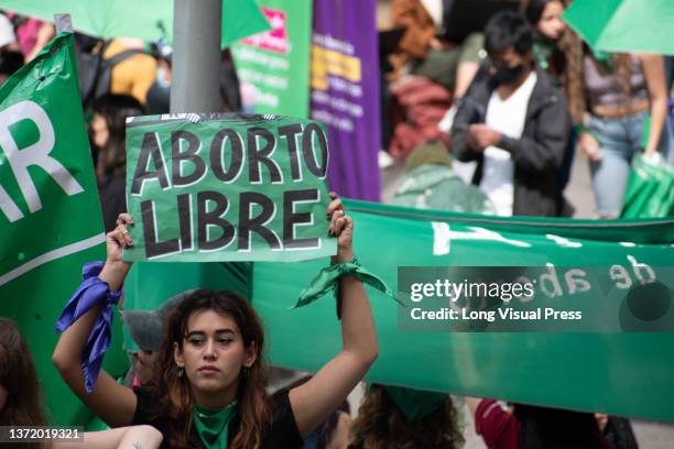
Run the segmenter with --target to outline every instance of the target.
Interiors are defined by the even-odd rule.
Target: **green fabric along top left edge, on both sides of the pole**
[[[76,31],[94,36],[173,40],[171,0],[0,0],[0,8],[48,22],[69,13]],[[222,48],[264,30],[269,23],[254,0],[222,0]]]

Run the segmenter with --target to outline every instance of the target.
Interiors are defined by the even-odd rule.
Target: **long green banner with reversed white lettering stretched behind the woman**
[[[569,271],[562,267],[604,267],[607,274],[612,270],[615,286],[628,282],[639,286],[640,276],[650,276],[649,269],[659,275],[661,267],[667,269],[666,275],[674,261],[672,219],[489,218],[361,201],[346,201],[346,209],[356,222],[358,259],[391,286],[396,285],[399,266],[539,266],[550,278],[551,289],[563,289],[551,300],[563,304],[574,283],[568,283]],[[252,304],[270,337],[272,364],[315,371],[339,350],[331,296],[287,309],[327,263],[253,264]],[[182,265],[135,266],[142,269],[142,277],[128,283],[134,300],[151,308],[153,300],[194,288],[194,284],[181,285]],[[161,278],[173,281],[148,282],[159,278],[160,272],[153,273],[157,270]],[[674,282],[664,281],[670,286]],[[569,324],[568,332],[411,332],[399,320],[404,309],[383,294],[367,291],[379,341],[379,359],[368,381],[674,421],[674,362],[668,357],[674,335],[670,331],[633,331],[628,322],[621,331],[609,327],[608,331],[574,332]],[[596,305],[612,310],[607,321],[620,319],[630,289],[624,292],[620,304]],[[594,309],[595,300],[611,299],[611,295],[586,298],[587,307]],[[670,304],[662,311],[654,325],[671,320],[674,308]]]

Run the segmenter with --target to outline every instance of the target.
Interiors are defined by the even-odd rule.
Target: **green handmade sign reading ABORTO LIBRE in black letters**
[[[301,261],[335,254],[325,127],[278,116],[127,123],[129,261]]]

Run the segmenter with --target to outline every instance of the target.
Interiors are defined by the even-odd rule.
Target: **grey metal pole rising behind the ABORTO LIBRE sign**
[[[222,0],[174,0],[171,112],[217,112]]]

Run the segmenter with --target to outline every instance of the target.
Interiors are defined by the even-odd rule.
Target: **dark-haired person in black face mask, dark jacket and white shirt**
[[[452,152],[477,161],[474,183],[500,216],[570,216],[559,183],[572,128],[564,94],[534,64],[533,30],[515,12],[485,29],[489,65],[478,73],[452,128]]]

